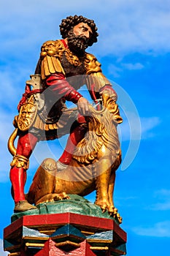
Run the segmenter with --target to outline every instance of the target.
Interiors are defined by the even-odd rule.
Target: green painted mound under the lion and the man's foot
[[[92,217],[115,219],[111,217],[107,211],[102,213],[101,208],[99,206],[96,206],[94,203],[90,203],[84,197],[80,197],[79,195],[69,196],[69,200],[59,200],[49,203],[40,203],[39,205],[37,205],[36,209],[13,214],[11,217],[11,222],[14,222],[16,219],[19,219],[24,215],[62,214],[66,212],[88,215]],[[115,222],[119,224],[117,219],[115,219]]]

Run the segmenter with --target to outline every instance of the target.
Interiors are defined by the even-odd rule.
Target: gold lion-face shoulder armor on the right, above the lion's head
[[[101,64],[98,62],[96,57],[93,56],[93,54],[86,53],[85,69],[87,75],[90,75],[91,73],[101,72]]]

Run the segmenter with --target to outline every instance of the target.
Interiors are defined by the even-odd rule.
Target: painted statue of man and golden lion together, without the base
[[[15,132],[9,138],[8,146],[13,155],[10,180],[14,211],[27,211],[36,208],[37,203],[58,200],[58,197],[68,198],[65,193],[88,195],[96,189],[96,205],[112,214],[115,207],[112,202],[115,170],[121,162],[116,127],[122,118],[116,104],[117,94],[103,75],[96,57],[86,52],[97,42],[94,21],[82,16],[69,16],[62,20],[60,31],[62,39],[42,45],[35,75],[26,82],[26,91],[18,105],[19,113],[13,122]],[[95,108],[78,91],[83,85],[87,86]],[[67,108],[66,101],[73,102],[75,108]],[[24,186],[28,159],[36,143],[66,134],[69,138],[63,154],[57,162],[52,159],[43,162],[26,196]],[[80,148],[78,153],[77,146]],[[43,173],[50,167],[60,173],[59,178],[53,175],[53,181]],[[74,181],[64,181],[65,176],[71,176],[72,167],[76,169]],[[98,175],[89,175],[85,182],[86,173],[99,169]],[[78,173],[82,173],[82,182],[77,180]],[[37,194],[39,180],[40,183],[45,181],[45,186]]]

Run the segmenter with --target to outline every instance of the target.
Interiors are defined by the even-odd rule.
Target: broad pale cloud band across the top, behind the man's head
[[[45,0],[25,4],[7,0],[1,3],[0,14],[2,53],[12,56],[58,37],[61,19],[74,14],[95,20],[100,37],[93,49],[98,55],[170,50],[170,4],[166,0],[107,0],[104,4],[101,0],[87,0],[83,6],[78,0],[66,4],[54,0],[50,4]]]

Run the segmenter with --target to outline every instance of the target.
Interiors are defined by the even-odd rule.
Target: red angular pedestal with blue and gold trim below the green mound
[[[26,215],[4,229],[10,256],[118,256],[125,255],[125,243],[114,219],[81,214]]]

